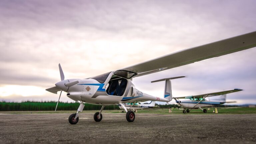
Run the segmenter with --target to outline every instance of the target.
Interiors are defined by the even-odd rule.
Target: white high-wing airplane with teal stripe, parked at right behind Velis
[[[238,92],[238,91],[242,91],[242,89],[231,89],[231,90],[207,93],[202,95],[173,97],[173,98],[176,100],[176,103],[180,107],[184,108],[183,113],[186,113],[186,112],[189,113],[191,109],[201,109],[204,113],[206,113],[207,110],[202,108],[221,105],[224,103],[234,103],[235,101],[232,101],[232,102],[226,101],[226,94]],[[215,100],[206,99],[212,96],[219,96],[219,95],[221,95],[220,99],[215,99]],[[179,99],[184,99],[184,100],[179,100]]]

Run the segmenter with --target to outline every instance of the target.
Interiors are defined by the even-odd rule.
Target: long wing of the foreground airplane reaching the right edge
[[[138,77],[253,47],[256,47],[256,31],[178,51],[120,70],[137,73],[134,77]]]

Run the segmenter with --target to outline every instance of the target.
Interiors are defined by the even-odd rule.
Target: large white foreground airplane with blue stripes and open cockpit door
[[[101,110],[94,114],[94,120],[96,122],[101,121],[101,112],[104,107],[114,104],[120,104],[126,111],[127,121],[133,122],[135,120],[135,113],[133,111],[128,111],[123,103],[134,101],[169,102],[172,100],[170,79],[174,79],[162,79],[165,81],[164,96],[155,97],[137,90],[132,83],[133,78],[238,52],[255,46],[256,31],[210,44],[181,50],[87,79],[65,79],[62,68],[59,64],[61,81],[57,82],[54,87],[46,90],[55,94],[60,91],[60,96],[62,91],[65,91],[69,98],[80,103],[77,113],[69,116],[68,120],[70,124],[76,124],[78,122],[78,113],[82,112],[84,103],[102,105]],[[107,85],[109,86],[107,87]]]

